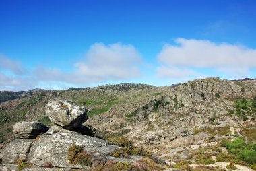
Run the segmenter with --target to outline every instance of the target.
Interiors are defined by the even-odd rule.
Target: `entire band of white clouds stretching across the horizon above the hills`
[[[170,84],[210,76],[255,77],[256,49],[185,38],[175,43],[164,45],[156,55],[158,64],[150,63],[158,77],[152,75],[152,67],[143,68],[143,58],[131,44],[92,44],[83,59],[70,63],[67,70],[46,65],[26,69],[19,61],[0,55],[0,90],[65,89],[138,77],[170,80]]]

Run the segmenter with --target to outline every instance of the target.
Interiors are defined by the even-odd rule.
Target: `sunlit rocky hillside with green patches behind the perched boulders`
[[[52,98],[65,98],[88,108],[84,126],[93,128],[95,137],[127,137],[135,145],[143,145],[168,158],[169,162],[178,160],[177,155],[170,153],[185,150],[184,147],[193,149],[191,145],[216,145],[224,138],[237,136],[243,136],[247,143],[255,143],[252,134],[256,80],[253,79],[228,81],[210,77],[164,87],[123,83],[60,91],[31,90],[21,94],[2,98],[2,142],[11,140],[12,127],[18,121],[53,125],[46,116],[45,106]],[[182,154],[179,158],[187,158],[192,152]]]

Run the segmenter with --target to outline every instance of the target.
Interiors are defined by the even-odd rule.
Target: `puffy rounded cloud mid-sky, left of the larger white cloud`
[[[86,61],[75,64],[76,73],[90,79],[127,79],[140,75],[141,57],[131,45],[120,43],[106,46],[98,43],[90,47]]]

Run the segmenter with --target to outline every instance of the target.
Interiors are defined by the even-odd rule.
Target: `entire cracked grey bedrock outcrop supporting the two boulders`
[[[8,143],[5,148],[0,150],[1,164],[4,164],[2,168],[5,167],[9,170],[13,166],[8,164],[17,164],[20,160],[40,167],[51,164],[57,168],[82,169],[84,166],[71,164],[67,160],[68,149],[72,144],[84,147],[85,151],[89,151],[95,156],[105,156],[105,158],[110,156],[115,149],[120,148],[96,137],[53,126],[38,139],[15,139]]]

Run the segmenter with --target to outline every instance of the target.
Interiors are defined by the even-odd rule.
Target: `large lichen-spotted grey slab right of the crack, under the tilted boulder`
[[[67,160],[69,146],[73,143],[84,146],[86,151],[94,154],[108,155],[119,148],[117,145],[109,145],[102,139],[65,130],[52,135],[42,135],[38,141],[35,141],[30,149],[28,162],[38,166],[44,166],[46,162],[50,162],[59,168],[81,168],[81,166],[70,164]]]

